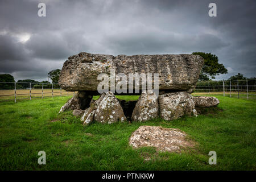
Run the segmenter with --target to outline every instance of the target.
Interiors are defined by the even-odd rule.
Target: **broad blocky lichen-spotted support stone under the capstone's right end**
[[[158,97],[160,118],[177,119],[184,114],[197,115],[195,103],[187,92],[165,93]]]

